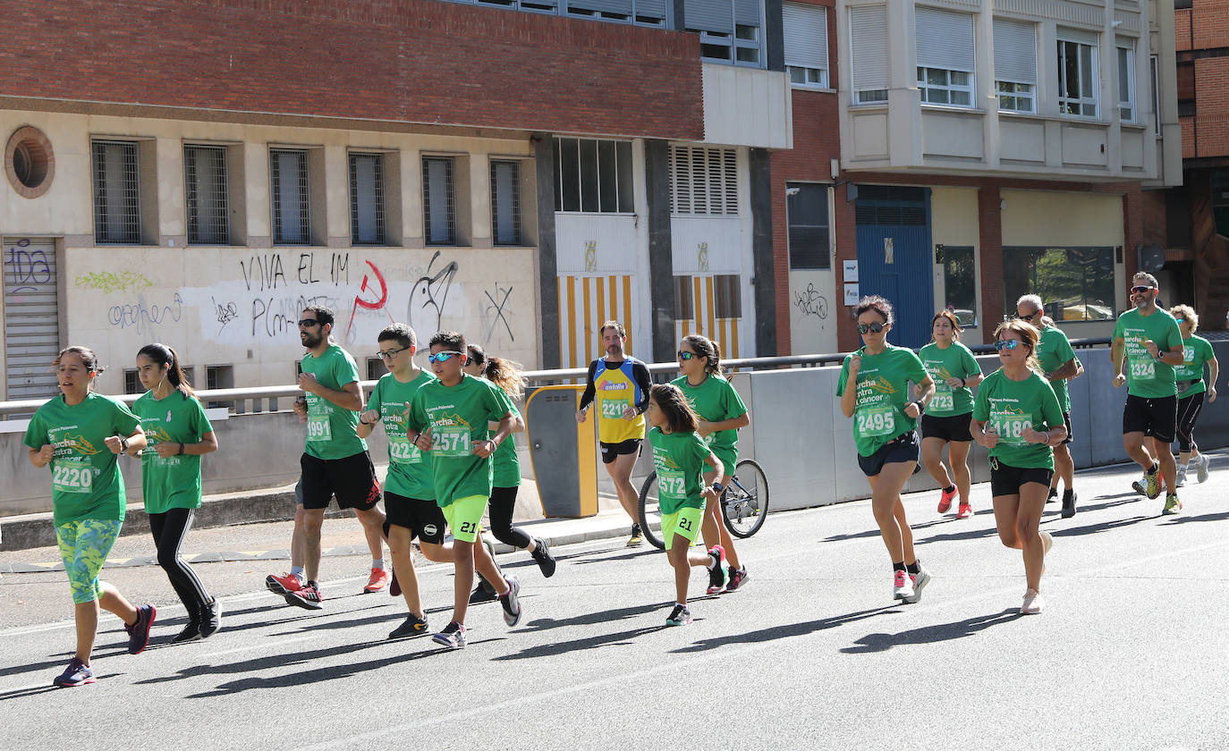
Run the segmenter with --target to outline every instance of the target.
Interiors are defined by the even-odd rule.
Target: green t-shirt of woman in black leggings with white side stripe
[[[162,458],[154,446],[199,442],[214,429],[205,417],[205,408],[182,391],[172,391],[163,399],[154,398],[154,392],[146,391],[133,403],[133,414],[141,418],[141,428],[149,440],[149,446],[141,451],[145,510],[165,514],[168,509],[199,509],[200,457],[184,454]]]

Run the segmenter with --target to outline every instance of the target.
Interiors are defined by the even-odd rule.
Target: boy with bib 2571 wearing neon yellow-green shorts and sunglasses
[[[406,428],[410,442],[430,451],[435,479],[435,503],[452,530],[452,621],[433,639],[461,649],[466,645],[465,616],[473,586],[474,548],[482,532],[482,515],[490,499],[494,466],[492,455],[512,434],[512,404],[494,383],[462,370],[466,361],[465,336],[441,331],[431,337],[428,360],[436,381],[414,395]],[[498,422],[492,433],[489,423]],[[477,554],[477,568],[495,585],[504,608],[504,622],[521,621],[516,576],[504,576],[485,551]]]

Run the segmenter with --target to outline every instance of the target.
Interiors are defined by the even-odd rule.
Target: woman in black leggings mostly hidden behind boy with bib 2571
[[[482,347],[477,344],[469,344],[467,350],[469,353],[469,359],[465,365],[467,374],[487,379],[498,386],[510,402],[517,402],[525,396],[525,377],[521,376],[520,363],[503,358],[488,358]],[[516,417],[512,431],[524,433],[525,420],[515,404],[512,413]],[[487,506],[490,533],[504,545],[528,552],[537,562],[538,568],[542,569],[542,575],[549,579],[554,575],[556,562],[546,541],[541,537],[530,537],[512,526],[516,493],[521,486],[521,463],[516,457],[516,442],[511,436],[499,445],[493,461],[495,465],[494,487],[490,489],[490,504]],[[477,591],[474,590],[474,592]],[[494,590],[490,590],[490,599],[495,599]]]

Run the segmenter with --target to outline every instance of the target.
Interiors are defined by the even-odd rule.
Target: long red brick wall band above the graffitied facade
[[[0,96],[703,138],[696,34],[435,0],[6,0]]]

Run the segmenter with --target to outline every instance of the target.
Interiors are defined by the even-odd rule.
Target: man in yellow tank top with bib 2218
[[[627,333],[618,321],[602,323],[605,358],[589,364],[585,393],[580,397],[576,422],[584,423],[589,407],[597,404],[597,440],[602,447],[602,463],[614,481],[619,504],[632,517],[628,547],[643,542],[638,524],[639,497],[632,486],[632,468],[640,455],[644,440],[644,411],[649,406],[649,369],[644,363],[623,353]]]

